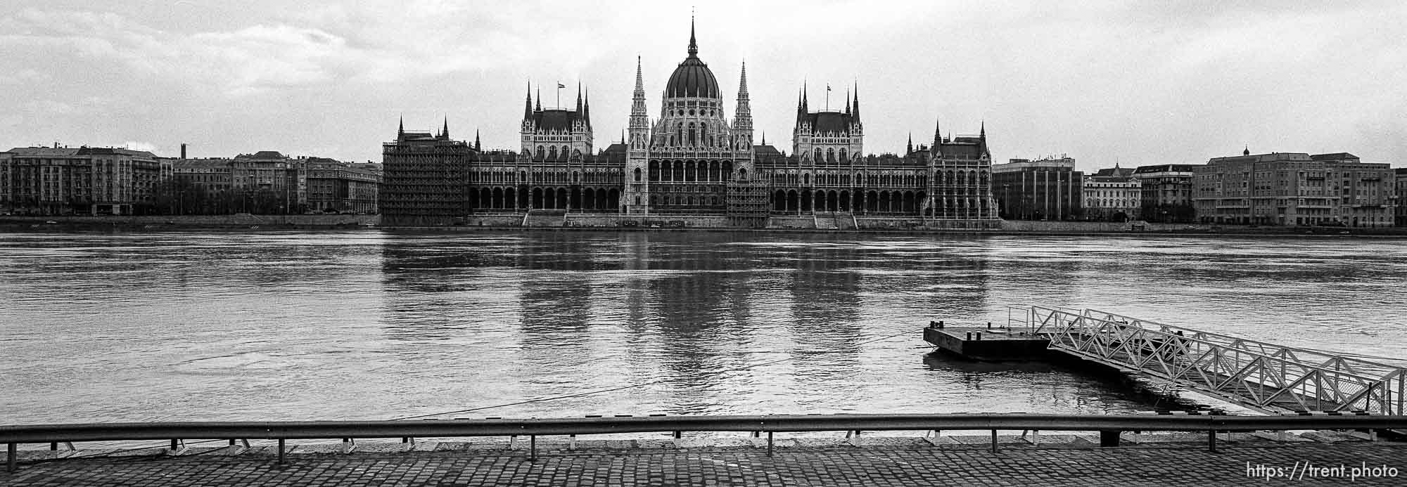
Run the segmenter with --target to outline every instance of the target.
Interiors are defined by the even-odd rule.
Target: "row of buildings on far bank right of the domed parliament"
[[[1213,158],[1204,165],[1100,169],[1071,158],[993,165],[1006,220],[1145,220],[1255,225],[1407,225],[1407,167],[1346,152],[1272,152]]]

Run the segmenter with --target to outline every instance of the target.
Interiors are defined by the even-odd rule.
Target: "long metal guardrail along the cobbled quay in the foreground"
[[[996,452],[998,431],[1097,431],[1100,445],[1117,446],[1123,431],[1206,431],[1216,452],[1216,434],[1286,429],[1407,429],[1407,415],[1314,414],[1231,417],[1199,414],[1159,415],[1059,415],[1059,414],[841,414],[841,415],[716,415],[716,417],[613,417],[547,419],[421,419],[421,421],[241,421],[241,422],[110,422],[0,426],[0,443],[8,443],[7,467],[15,469],[18,443],[170,439],[277,439],[279,462],[287,439],[350,438],[463,438],[529,436],[529,460],[537,456],[537,436],[605,435],[633,432],[767,432],[772,435],[813,431],[991,431]]]

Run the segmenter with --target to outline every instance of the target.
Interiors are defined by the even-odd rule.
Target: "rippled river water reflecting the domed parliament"
[[[0,424],[1152,408],[1069,369],[929,356],[929,320],[1009,304],[1404,358],[1407,245],[0,234]]]

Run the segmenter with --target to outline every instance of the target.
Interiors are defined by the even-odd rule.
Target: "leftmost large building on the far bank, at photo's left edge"
[[[17,214],[141,214],[172,160],[118,148],[14,148],[0,158],[0,207]]]

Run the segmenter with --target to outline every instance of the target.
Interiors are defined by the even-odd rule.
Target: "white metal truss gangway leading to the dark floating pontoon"
[[[1050,349],[1266,414],[1407,414],[1403,367],[1099,310],[1009,307],[1007,321]]]

